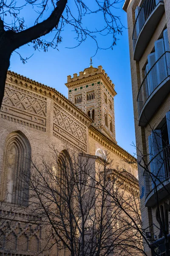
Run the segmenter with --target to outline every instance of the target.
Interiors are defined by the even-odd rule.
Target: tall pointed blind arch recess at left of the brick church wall
[[[9,203],[28,205],[31,146],[22,132],[9,134],[4,151],[2,182],[6,190],[1,195]]]

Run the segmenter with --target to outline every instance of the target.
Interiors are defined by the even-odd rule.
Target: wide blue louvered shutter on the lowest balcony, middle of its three
[[[151,132],[152,137],[152,145],[153,145],[153,155],[154,155],[154,170],[155,175],[157,177],[156,184],[159,184],[160,181],[164,181],[165,179],[165,170],[164,170],[164,154],[163,154],[163,146],[162,146],[162,138],[161,138],[161,130],[153,130]]]

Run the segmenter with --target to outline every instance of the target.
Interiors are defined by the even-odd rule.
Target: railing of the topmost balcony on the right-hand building
[[[164,2],[163,0],[145,0],[142,4],[139,13],[136,17],[135,25],[133,28],[133,49],[135,49],[136,41],[138,36],[144,26],[144,23],[147,21],[147,18],[151,15],[151,13],[156,9],[156,6],[160,3]]]

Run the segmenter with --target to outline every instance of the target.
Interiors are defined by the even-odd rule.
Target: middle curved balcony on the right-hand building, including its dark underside
[[[164,52],[146,74],[137,102],[139,126],[145,126],[170,92],[170,52]]]

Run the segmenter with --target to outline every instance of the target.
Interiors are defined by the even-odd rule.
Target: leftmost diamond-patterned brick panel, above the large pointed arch
[[[6,84],[1,111],[2,119],[45,131],[46,99],[36,93]]]

